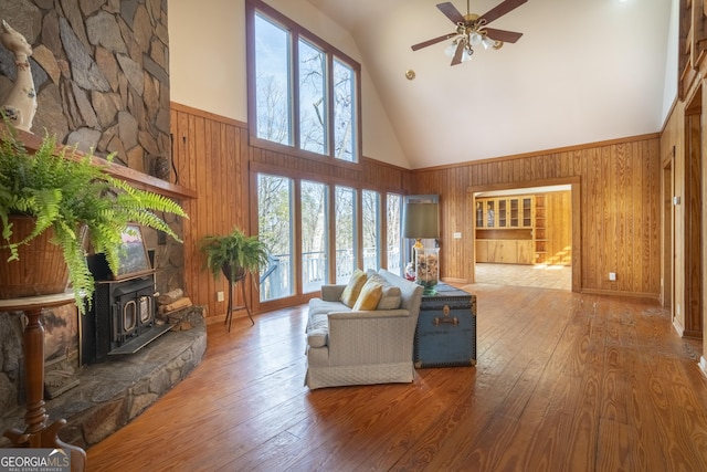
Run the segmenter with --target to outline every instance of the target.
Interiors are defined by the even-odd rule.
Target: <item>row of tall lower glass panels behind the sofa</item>
[[[355,269],[401,274],[395,193],[257,174],[257,231],[271,250],[261,273],[260,302],[347,283]],[[386,228],[386,230],[383,230]]]

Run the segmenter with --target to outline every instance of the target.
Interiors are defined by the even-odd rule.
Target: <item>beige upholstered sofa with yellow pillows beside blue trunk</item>
[[[346,285],[323,285],[321,298],[309,302],[305,385],[310,389],[413,380],[423,287],[384,269],[377,274],[386,282],[383,297],[399,290],[398,307],[379,310],[381,298],[373,311],[354,312],[340,302]],[[390,298],[386,303],[391,306]]]

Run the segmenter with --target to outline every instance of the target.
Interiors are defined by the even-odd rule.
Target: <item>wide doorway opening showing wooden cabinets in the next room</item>
[[[580,291],[579,179],[472,190],[471,280]]]

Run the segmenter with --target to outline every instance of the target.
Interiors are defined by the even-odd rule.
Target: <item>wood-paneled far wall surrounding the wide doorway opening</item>
[[[656,297],[659,293],[659,137],[415,170],[413,193],[439,193],[441,276],[473,280],[473,208],[479,190],[578,182],[572,245],[576,290]],[[463,232],[454,239],[454,232]],[[578,241],[579,240],[579,241]],[[578,251],[579,249],[579,251]],[[618,280],[609,281],[609,272]]]

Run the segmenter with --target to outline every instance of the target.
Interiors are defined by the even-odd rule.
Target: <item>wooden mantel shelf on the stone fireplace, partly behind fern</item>
[[[0,130],[2,136],[7,136],[10,130],[7,128],[4,124],[0,125]],[[42,137],[34,135],[32,133],[27,133],[21,129],[17,129],[19,139],[24,143],[24,147],[28,150],[36,150],[42,144]],[[59,146],[60,151],[62,148],[66,148],[67,153],[65,156],[72,159],[81,159],[85,155],[80,150],[74,150],[68,146]],[[57,153],[59,154],[59,153]],[[106,159],[102,159],[99,157],[93,156],[92,160],[94,164],[98,166],[105,166],[106,171],[114,177],[123,179],[129,182],[133,187],[139,188],[141,190],[151,191],[155,193],[163,195],[165,197],[182,199],[182,198],[197,198],[197,191],[176,185],[170,183],[166,180],[158,179],[157,177],[149,176],[147,174],[143,174],[138,170],[130,169],[129,167],[120,166],[115,162],[109,162]]]

